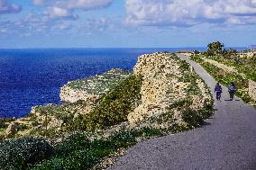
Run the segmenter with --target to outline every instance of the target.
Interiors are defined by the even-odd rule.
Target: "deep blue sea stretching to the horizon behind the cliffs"
[[[111,68],[132,71],[145,53],[206,48],[161,49],[0,49],[0,118],[21,118],[32,106],[60,103],[69,81]]]

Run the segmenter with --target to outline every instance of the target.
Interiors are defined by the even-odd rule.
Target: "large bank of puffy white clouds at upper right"
[[[126,0],[126,23],[189,26],[256,23],[255,0]]]

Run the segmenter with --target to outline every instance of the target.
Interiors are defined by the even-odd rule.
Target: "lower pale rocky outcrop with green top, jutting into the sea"
[[[128,76],[130,76],[129,72],[111,69],[103,75],[71,81],[60,88],[59,97],[61,101],[68,103],[79,100],[94,103]]]

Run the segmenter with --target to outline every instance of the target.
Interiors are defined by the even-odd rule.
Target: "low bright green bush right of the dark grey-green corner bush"
[[[102,157],[115,151],[114,142],[108,139],[96,139],[90,142],[87,135],[76,133],[64,139],[56,146],[56,155],[44,160],[33,170],[84,170],[95,166]]]

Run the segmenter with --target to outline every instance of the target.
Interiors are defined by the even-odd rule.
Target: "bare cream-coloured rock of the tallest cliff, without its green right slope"
[[[143,76],[142,103],[128,115],[128,121],[133,124],[152,115],[166,112],[171,102],[169,98],[173,96],[169,91],[178,83],[176,77],[180,74],[178,67],[178,63],[165,53],[142,55],[138,59],[133,72],[135,75]],[[169,75],[173,76],[169,77]]]

